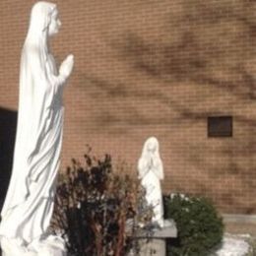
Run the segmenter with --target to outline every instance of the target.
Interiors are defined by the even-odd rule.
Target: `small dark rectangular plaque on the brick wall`
[[[209,116],[208,137],[232,137],[232,116]]]

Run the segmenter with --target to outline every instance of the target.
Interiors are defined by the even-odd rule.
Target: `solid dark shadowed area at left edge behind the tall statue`
[[[2,209],[12,171],[17,111],[0,107],[0,209]]]

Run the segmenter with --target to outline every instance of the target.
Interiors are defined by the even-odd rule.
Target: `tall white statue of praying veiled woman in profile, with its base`
[[[21,58],[12,177],[1,213],[0,241],[6,256],[62,255],[64,250],[60,238],[45,234],[60,162],[62,94],[74,65],[69,55],[58,70],[50,53],[48,37],[60,26],[55,4],[34,4]],[[46,244],[52,246],[47,250]]]

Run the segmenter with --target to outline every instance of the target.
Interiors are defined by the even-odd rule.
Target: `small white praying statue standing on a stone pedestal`
[[[157,138],[151,137],[145,142],[142,156],[138,162],[138,171],[141,184],[146,190],[146,201],[153,207],[152,223],[163,227],[163,206],[160,189],[163,169]]]

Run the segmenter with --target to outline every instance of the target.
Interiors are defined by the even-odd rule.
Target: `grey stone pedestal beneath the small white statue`
[[[133,238],[137,241],[138,250],[133,248],[128,256],[165,256],[166,239],[177,237],[176,224],[164,220],[163,227],[141,227],[136,229]]]

